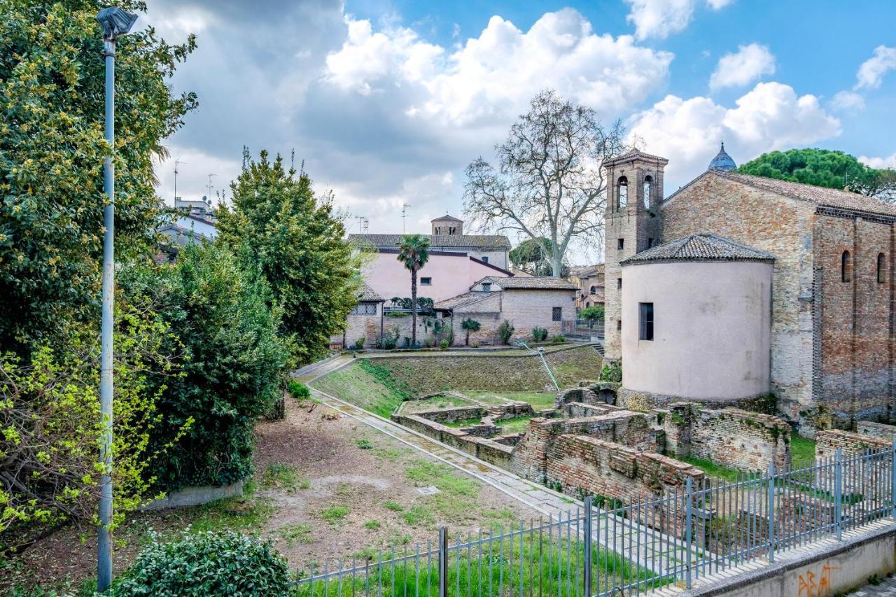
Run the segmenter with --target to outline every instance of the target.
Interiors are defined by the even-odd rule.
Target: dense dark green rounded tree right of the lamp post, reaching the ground
[[[147,296],[177,344],[162,348],[179,376],[156,376],[160,422],[151,446],[171,446],[153,469],[159,489],[224,485],[252,472],[254,423],[282,392],[289,352],[271,289],[225,247],[189,244],[173,266],[119,276]],[[196,421],[183,437],[175,430]]]

